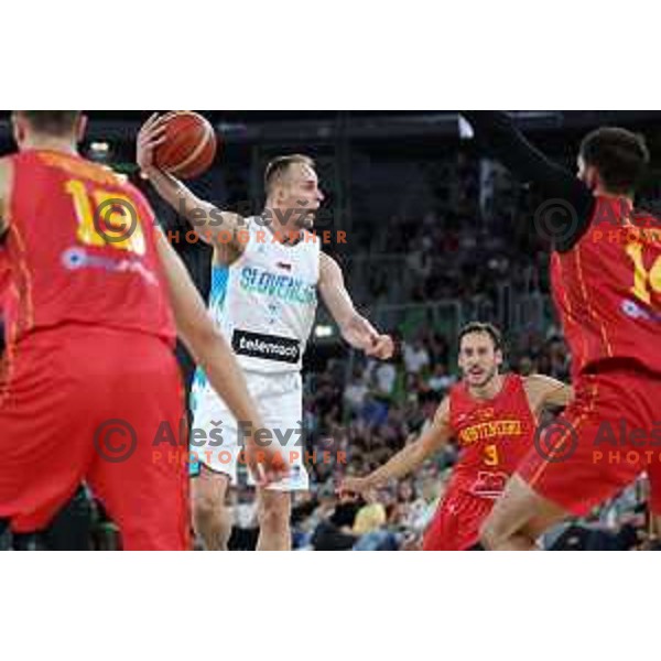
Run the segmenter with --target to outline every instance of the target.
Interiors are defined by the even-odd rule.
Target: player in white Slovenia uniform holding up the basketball
[[[310,231],[324,199],[312,159],[295,154],[272,161],[264,175],[263,214],[242,218],[197,198],[156,169],[153,152],[162,140],[163,123],[153,116],[138,138],[138,163],[158,193],[187,217],[202,240],[214,246],[210,312],[231,343],[271,432],[264,443],[281,447],[290,464],[286,478],[266,489],[258,487],[258,550],[289,550],[290,492],[308,488],[301,367],[317,291],[349,345],[388,359],[393,343],[358,314],[340,268],[319,250],[319,241]],[[237,479],[241,424],[199,371],[192,403],[191,449],[199,459],[193,473],[193,520],[205,548],[223,550],[231,532],[225,496]]]

